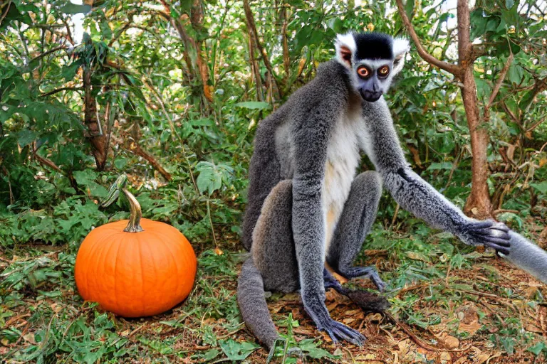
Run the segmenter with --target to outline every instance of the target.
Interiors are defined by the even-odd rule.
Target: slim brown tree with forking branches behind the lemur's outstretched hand
[[[402,18],[403,23],[405,24],[405,27],[407,28],[407,31],[410,33],[410,37],[412,38],[412,41],[414,41],[417,53],[420,55],[421,58],[423,58],[427,63],[433,65],[434,67],[440,68],[442,70],[447,71],[448,73],[451,73],[454,75],[454,78],[457,82],[459,82],[460,91],[462,94],[462,100],[463,105],[465,108],[465,114],[467,117],[467,124],[469,126],[469,134],[471,136],[471,148],[472,148],[472,190],[467,198],[467,202],[464,207],[464,212],[468,215],[472,215],[476,218],[486,218],[491,216],[492,213],[492,203],[491,203],[491,196],[489,193],[489,186],[488,186],[488,178],[489,178],[489,164],[488,164],[488,147],[489,147],[489,129],[486,123],[489,122],[489,109],[492,107],[492,104],[494,100],[496,100],[496,97],[498,96],[500,87],[502,83],[505,80],[506,74],[509,71],[509,68],[511,67],[511,63],[514,60],[514,50],[513,50],[513,42],[514,44],[522,43],[522,39],[519,39],[519,37],[513,37],[516,39],[510,39],[511,37],[511,27],[514,29],[514,25],[511,26],[510,23],[504,22],[504,23],[497,23],[496,27],[494,27],[494,32],[491,31],[489,28],[488,31],[486,31],[483,34],[477,34],[474,33],[474,37],[472,37],[472,28],[476,27],[476,24],[472,24],[470,22],[471,18],[471,9],[469,9],[469,2],[467,0],[458,0],[457,1],[457,44],[458,44],[458,63],[448,63],[443,60],[439,60],[438,58],[435,58],[433,55],[427,52],[425,50],[424,46],[422,45],[422,42],[420,41],[419,36],[417,35],[417,32],[415,31],[415,28],[412,26],[412,22],[410,21],[409,16],[412,16],[412,10],[414,8],[413,4],[414,1],[410,2],[411,6],[408,6],[409,3],[407,2],[407,8],[410,8],[410,14],[407,14],[407,9],[405,9],[405,6],[402,3],[402,0],[396,0],[397,1],[397,8],[399,11],[399,14]],[[529,2],[529,1],[528,1]],[[503,5],[497,5],[494,6],[489,10],[489,12],[500,12],[503,16],[506,18],[514,18],[514,14],[518,11],[518,5],[514,4],[514,1],[504,1],[505,4]],[[526,3],[526,1],[525,1]],[[522,8],[520,8],[522,9]],[[531,11],[531,6],[528,5],[527,8],[528,12],[525,14],[526,16],[529,16]],[[541,12],[540,9],[537,9]],[[479,9],[476,11],[479,11],[479,14],[474,12],[474,17],[479,18],[482,16],[481,12],[485,11],[483,7],[479,4]],[[502,20],[505,21],[504,18]],[[514,18],[514,21],[521,22],[520,26],[529,25],[526,22],[526,18],[519,19],[519,16]],[[486,29],[485,29],[486,30]],[[495,82],[494,87],[491,90],[491,94],[489,96],[489,101],[486,103],[483,103],[482,105],[482,113],[481,113],[481,105],[479,103],[479,100],[477,98],[477,86],[476,86],[476,73],[474,71],[474,67],[476,66],[476,60],[484,57],[484,56],[494,56],[499,57],[501,55],[500,53],[504,53],[504,50],[501,49],[496,51],[496,47],[499,47],[500,40],[494,39],[493,43],[481,45],[481,44],[474,44],[473,40],[477,36],[480,36],[483,38],[484,41],[489,41],[489,36],[491,37],[491,33],[495,33],[496,36],[499,36],[499,33],[503,34],[505,36],[506,41],[509,43],[509,46],[505,47],[507,53],[509,53],[506,63],[503,65],[503,68],[501,70],[498,70],[497,80]],[[512,33],[515,33],[514,31]],[[537,35],[536,35],[537,36]],[[504,38],[504,37],[502,37]],[[447,41],[449,41],[449,38],[447,38]],[[503,40],[502,40],[503,41]],[[486,50],[486,47],[489,47],[489,50]],[[520,48],[517,50],[519,51]],[[536,91],[543,90],[543,84],[536,85]],[[541,92],[541,91],[538,91]],[[537,95],[537,93],[535,95]],[[481,116],[482,115],[482,116]]]

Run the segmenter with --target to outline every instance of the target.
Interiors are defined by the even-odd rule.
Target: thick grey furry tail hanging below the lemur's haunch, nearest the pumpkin
[[[241,267],[237,282],[237,303],[243,320],[254,336],[271,349],[279,336],[266,304],[264,281],[254,265],[253,257],[249,257]]]

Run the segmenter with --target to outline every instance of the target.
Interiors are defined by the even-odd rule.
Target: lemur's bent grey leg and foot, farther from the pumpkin
[[[385,288],[385,283],[375,267],[352,265],[374,223],[381,195],[380,173],[366,171],[353,180],[326,257],[330,267],[338,274],[348,278],[368,277],[380,291]]]

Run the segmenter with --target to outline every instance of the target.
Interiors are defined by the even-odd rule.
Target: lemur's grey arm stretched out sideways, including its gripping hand
[[[385,100],[364,105],[370,117],[367,124],[372,145],[369,154],[382,174],[384,186],[397,203],[434,228],[441,228],[469,245],[486,245],[509,253],[509,228],[492,220],[468,218],[418,176],[405,161]]]

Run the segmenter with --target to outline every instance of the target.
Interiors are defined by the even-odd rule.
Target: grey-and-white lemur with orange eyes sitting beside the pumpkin
[[[333,342],[365,341],[330,318],[325,287],[344,291],[325,263],[343,277],[365,276],[380,291],[385,287],[373,267],[353,267],[382,185],[434,228],[491,247],[545,281],[546,252],[503,223],[468,218],[405,161],[383,95],[402,69],[408,41],[347,33],[337,36],[335,50],[335,59],[322,63],[316,77],[256,129],[242,228],[251,256],[241,268],[237,299],[259,341],[273,353],[279,338],[264,291],[298,289],[304,309]],[[376,171],[355,176],[361,152]]]

